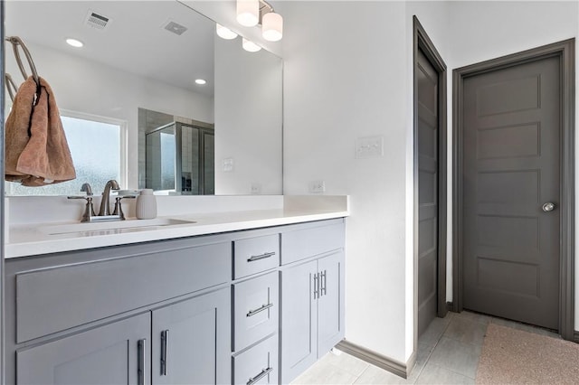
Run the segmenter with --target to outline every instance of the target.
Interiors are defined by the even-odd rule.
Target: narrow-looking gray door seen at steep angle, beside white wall
[[[418,335],[436,316],[438,271],[438,73],[418,51]]]

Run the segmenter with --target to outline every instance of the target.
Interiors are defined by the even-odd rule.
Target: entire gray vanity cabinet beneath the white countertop
[[[289,383],[344,337],[344,229],[7,259],[5,382]]]

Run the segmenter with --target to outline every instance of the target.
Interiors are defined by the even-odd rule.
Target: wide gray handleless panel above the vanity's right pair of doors
[[[281,265],[343,249],[346,229],[344,221],[320,222],[281,234]]]

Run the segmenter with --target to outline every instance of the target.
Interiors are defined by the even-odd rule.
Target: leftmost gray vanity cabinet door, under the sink
[[[16,352],[19,384],[150,383],[149,313]]]

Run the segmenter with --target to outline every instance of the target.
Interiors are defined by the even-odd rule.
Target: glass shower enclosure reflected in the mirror
[[[145,183],[157,193],[214,194],[214,128],[172,122],[147,132]]]

